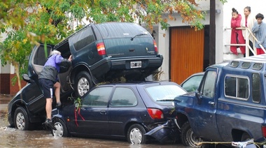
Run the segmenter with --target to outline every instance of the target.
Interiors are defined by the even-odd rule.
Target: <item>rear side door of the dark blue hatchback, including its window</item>
[[[141,113],[146,112],[146,108],[138,103],[138,98],[131,87],[116,87],[109,105],[110,135],[125,136],[127,122],[140,121]]]

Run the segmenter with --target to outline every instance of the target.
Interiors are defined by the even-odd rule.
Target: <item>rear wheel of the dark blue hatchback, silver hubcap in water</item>
[[[145,144],[145,133],[146,131],[143,126],[139,124],[133,124],[127,131],[127,141],[132,144]]]

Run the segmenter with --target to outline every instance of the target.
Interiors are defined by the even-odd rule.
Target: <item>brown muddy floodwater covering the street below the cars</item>
[[[125,140],[109,140],[99,138],[59,138],[54,137],[50,131],[20,131],[8,127],[6,118],[7,104],[0,101],[0,147],[130,147],[130,148],[154,148],[154,147],[183,147],[179,144],[160,145],[153,143],[148,145],[130,145]]]

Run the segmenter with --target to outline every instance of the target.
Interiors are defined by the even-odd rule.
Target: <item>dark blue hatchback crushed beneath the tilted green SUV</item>
[[[182,94],[186,90],[175,82],[101,84],[71,105],[52,110],[57,128],[52,134],[126,138],[144,144],[151,137],[148,131],[176,116],[174,98]]]

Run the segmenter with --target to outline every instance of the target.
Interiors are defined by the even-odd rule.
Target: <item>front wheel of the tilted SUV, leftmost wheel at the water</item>
[[[15,110],[14,124],[15,128],[18,128],[22,131],[29,130],[29,117],[25,108],[18,107]]]

